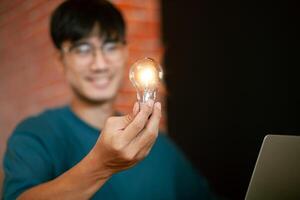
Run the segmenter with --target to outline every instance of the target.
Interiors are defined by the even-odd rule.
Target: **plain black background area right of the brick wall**
[[[223,197],[244,199],[266,134],[300,133],[299,12],[162,1],[169,133]]]

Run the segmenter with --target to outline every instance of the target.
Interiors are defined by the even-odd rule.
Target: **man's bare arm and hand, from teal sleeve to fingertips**
[[[139,111],[140,110],[140,111]],[[23,192],[18,199],[89,199],[115,173],[148,155],[161,117],[160,103],[150,101],[133,115],[111,117],[89,154],[70,170]]]

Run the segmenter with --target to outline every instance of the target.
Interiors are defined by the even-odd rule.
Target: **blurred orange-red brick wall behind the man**
[[[16,124],[28,115],[64,104],[70,91],[48,31],[49,15],[61,0],[0,1],[0,159]],[[128,112],[135,90],[128,80],[134,60],[161,60],[159,0],[114,0],[128,23],[130,58],[116,108]],[[164,90],[162,95],[164,96]],[[162,120],[161,127],[164,128]]]

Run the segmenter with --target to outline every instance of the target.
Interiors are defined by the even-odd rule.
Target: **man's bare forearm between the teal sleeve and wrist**
[[[22,193],[18,199],[89,199],[110,178],[99,170],[91,151],[81,162],[61,176]]]

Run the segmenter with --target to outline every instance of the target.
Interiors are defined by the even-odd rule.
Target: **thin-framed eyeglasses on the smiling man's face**
[[[71,46],[65,52],[69,53],[76,62],[90,64],[95,61],[97,50],[100,50],[107,62],[114,62],[122,57],[123,47],[124,43],[122,42],[106,42],[100,47],[89,42],[80,42]]]

